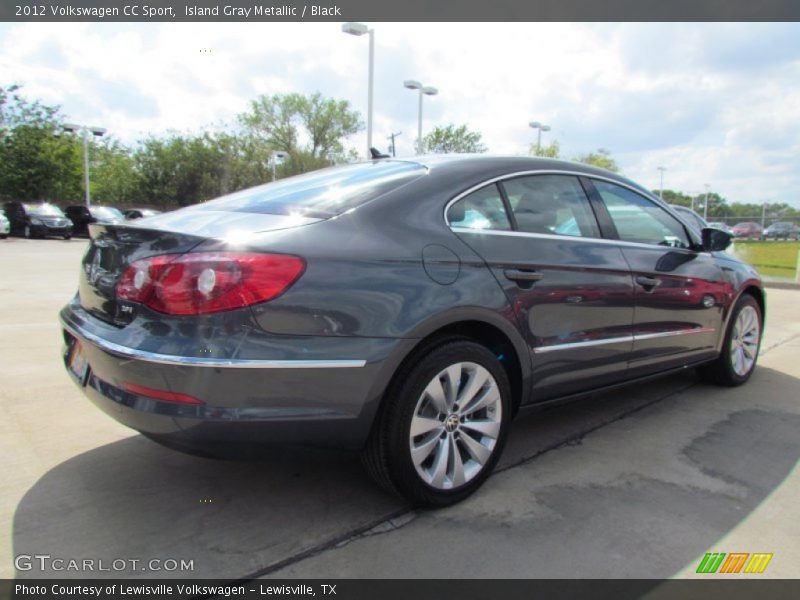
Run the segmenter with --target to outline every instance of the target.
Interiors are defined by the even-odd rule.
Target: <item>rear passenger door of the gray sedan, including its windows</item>
[[[577,177],[491,183],[451,203],[448,223],[484,258],[513,307],[536,401],[624,378],[633,283],[617,245],[599,239]]]

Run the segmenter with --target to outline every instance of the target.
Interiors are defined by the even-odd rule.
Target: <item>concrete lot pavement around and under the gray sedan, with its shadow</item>
[[[349,455],[195,458],[91,406],[56,319],[84,247],[0,242],[0,577],[690,577],[707,551],[798,574],[800,291],[769,291],[748,385],[687,372],[519,419],[482,490],[414,511]],[[17,570],[18,555],[127,562]]]

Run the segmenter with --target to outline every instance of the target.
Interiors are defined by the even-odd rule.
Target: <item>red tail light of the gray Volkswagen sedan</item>
[[[304,270],[302,258],[287,254],[165,254],[133,262],[117,298],[169,315],[214,313],[277,298]]]

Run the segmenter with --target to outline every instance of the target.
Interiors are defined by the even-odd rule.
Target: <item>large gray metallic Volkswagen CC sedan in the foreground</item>
[[[587,165],[335,167],[93,226],[64,361],[168,447],[360,450],[381,485],[443,506],[518,413],[689,367],[746,382],[764,295],[730,239]]]

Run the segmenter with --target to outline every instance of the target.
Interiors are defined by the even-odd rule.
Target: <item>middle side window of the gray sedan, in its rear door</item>
[[[502,183],[520,231],[600,237],[577,177],[534,175]]]

